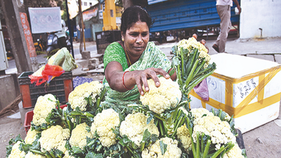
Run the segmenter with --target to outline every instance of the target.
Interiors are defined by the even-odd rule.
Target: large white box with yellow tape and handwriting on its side
[[[218,53],[214,74],[207,77],[209,100],[190,92],[190,108],[221,109],[233,115],[235,128],[242,133],[279,116],[281,65],[277,62]]]

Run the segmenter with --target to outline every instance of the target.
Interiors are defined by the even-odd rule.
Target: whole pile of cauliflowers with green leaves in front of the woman
[[[152,79],[148,80],[150,91],[141,96],[142,105],[136,105],[130,114],[109,105],[97,107],[97,113],[85,114],[87,103],[84,98],[91,97],[96,101],[103,85],[94,81],[77,86],[70,93],[70,103],[65,107],[65,110],[70,112],[63,113],[62,115],[66,116],[61,117],[72,117],[78,124],[72,124],[73,122],[67,122],[65,119],[48,129],[37,131],[31,128],[24,140],[14,142],[6,157],[189,157],[193,152],[192,143],[197,142],[196,133],[200,133],[200,136],[210,136],[211,144],[216,150],[226,143],[235,143],[235,136],[228,124],[228,114],[225,120],[221,121],[213,112],[204,108],[185,110],[179,107],[182,93],[178,84],[164,77],[159,77],[159,80],[159,87],[155,86]],[[36,126],[46,123],[46,117],[55,109],[55,103],[56,98],[51,94],[38,98],[33,119]],[[81,111],[77,112],[77,107]],[[169,113],[169,110],[174,113]],[[78,114],[81,115],[78,117]],[[166,126],[164,122],[169,122],[167,118],[172,118],[170,115],[176,118],[181,118],[177,117],[181,115],[184,119],[175,120],[178,121],[177,124],[171,122],[173,133],[166,136],[163,134],[166,129],[159,127]],[[188,118],[192,120],[192,133],[187,126]],[[241,153],[242,150],[236,143],[231,150],[223,154],[223,158],[243,157]]]

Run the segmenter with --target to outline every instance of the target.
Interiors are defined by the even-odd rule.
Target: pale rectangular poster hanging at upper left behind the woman
[[[58,32],[62,29],[60,7],[28,8],[32,34]]]

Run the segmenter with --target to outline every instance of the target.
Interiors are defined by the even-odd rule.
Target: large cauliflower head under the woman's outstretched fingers
[[[156,87],[152,79],[148,80],[150,91],[141,96],[141,103],[148,105],[152,112],[161,114],[181,101],[181,90],[176,81],[159,77],[160,86]]]

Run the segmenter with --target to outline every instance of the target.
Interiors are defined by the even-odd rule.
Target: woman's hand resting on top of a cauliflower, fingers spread
[[[140,92],[141,96],[143,96],[145,94],[143,91],[143,87],[145,88],[145,91],[150,90],[148,87],[148,79],[153,79],[153,81],[155,82],[155,86],[159,87],[160,82],[157,77],[157,74],[162,75],[166,79],[170,78],[170,75],[161,68],[151,67],[146,70],[139,70],[139,71],[133,71],[133,72],[135,72],[134,79],[136,81],[136,85],[138,86],[138,91]]]

